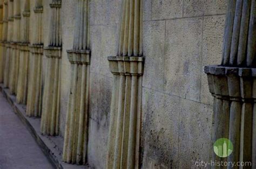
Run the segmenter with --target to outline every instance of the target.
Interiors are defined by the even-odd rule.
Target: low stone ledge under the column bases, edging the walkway
[[[62,161],[62,149],[64,139],[62,137],[43,136],[40,132],[40,118],[29,118],[25,116],[25,105],[17,104],[16,97],[9,94],[9,90],[0,84],[0,91],[3,96],[13,107],[15,113],[21,119],[22,123],[29,130],[32,137],[36,140],[37,144],[43,151],[46,157],[50,160],[51,164],[58,169],[89,169],[88,165],[78,166],[64,163]]]

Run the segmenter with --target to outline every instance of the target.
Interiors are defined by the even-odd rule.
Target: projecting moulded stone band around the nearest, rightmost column
[[[256,69],[210,65],[204,72],[213,97],[256,103]]]

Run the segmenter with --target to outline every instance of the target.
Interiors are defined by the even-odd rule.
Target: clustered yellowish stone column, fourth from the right
[[[47,57],[47,67],[44,83],[41,132],[56,136],[59,132],[60,62],[62,56],[61,1],[53,0],[50,8],[50,42],[49,46],[44,48],[44,53]]]

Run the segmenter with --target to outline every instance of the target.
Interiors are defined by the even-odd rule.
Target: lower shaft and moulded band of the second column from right
[[[137,168],[143,57],[109,57],[113,73],[107,168]]]

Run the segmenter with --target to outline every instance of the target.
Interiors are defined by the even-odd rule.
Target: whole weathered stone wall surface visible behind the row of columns
[[[43,1],[44,46],[50,1]],[[107,56],[117,55],[120,0],[90,2],[90,101],[87,159],[104,168],[110,123],[112,74]],[[31,1],[31,13],[35,6]],[[75,1],[62,1],[60,135],[64,136],[71,82],[66,50],[72,49]],[[219,64],[226,2],[144,0],[142,168],[190,168],[208,160],[212,97],[203,66]],[[33,22],[33,17],[30,18]],[[33,30],[33,25],[30,25]],[[32,39],[31,39],[32,40]],[[44,57],[45,71],[45,57]]]

